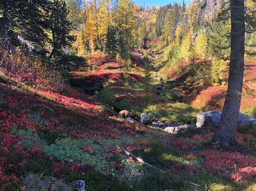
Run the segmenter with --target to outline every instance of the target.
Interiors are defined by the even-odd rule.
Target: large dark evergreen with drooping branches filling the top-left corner
[[[1,46],[45,55],[50,3],[47,0],[1,0]]]

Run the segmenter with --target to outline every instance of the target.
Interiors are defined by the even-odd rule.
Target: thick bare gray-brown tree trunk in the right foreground
[[[213,141],[230,147],[235,145],[235,132],[237,131],[242,80],[244,78],[245,53],[245,7],[244,0],[231,0],[231,55],[228,77],[227,96],[220,125]]]

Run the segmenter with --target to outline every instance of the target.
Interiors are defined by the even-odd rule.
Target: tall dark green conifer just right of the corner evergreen
[[[53,1],[49,25],[52,34],[52,39],[50,40],[52,51],[49,55],[49,59],[60,59],[64,54],[68,54],[68,47],[71,46],[74,40],[70,35],[72,27],[71,22],[68,20],[68,11],[65,1]]]

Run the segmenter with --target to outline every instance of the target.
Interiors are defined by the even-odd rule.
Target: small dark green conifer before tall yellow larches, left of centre
[[[107,27],[106,52],[111,56],[111,58],[116,58],[117,37],[116,37],[116,29],[112,25]]]

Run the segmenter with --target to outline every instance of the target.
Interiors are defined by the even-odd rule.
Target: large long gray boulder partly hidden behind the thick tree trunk
[[[205,125],[218,126],[220,123],[221,111],[207,111],[197,115],[197,127],[201,128]],[[238,126],[249,126],[252,125],[256,129],[256,119],[252,117],[239,114]]]

